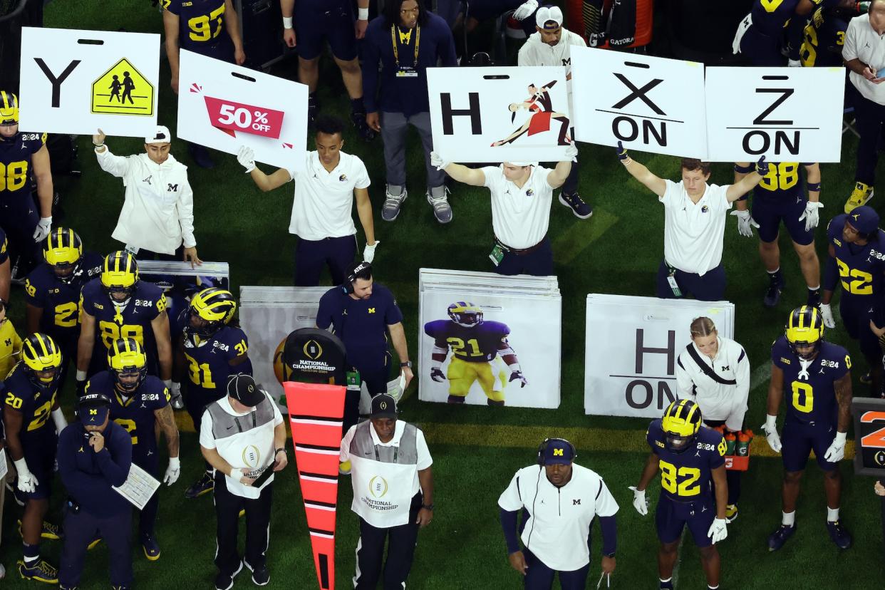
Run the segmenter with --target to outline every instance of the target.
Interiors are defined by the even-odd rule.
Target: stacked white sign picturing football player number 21
[[[452,303],[468,303],[482,312],[483,324],[473,328],[453,326],[448,309]],[[562,357],[562,296],[556,277],[518,275],[503,277],[492,272],[445,271],[421,269],[419,272],[419,399],[447,402],[454,392],[463,394],[466,403],[486,405],[492,395],[503,394],[508,406],[558,408],[559,366]],[[427,330],[435,333],[427,335]],[[502,328],[499,325],[504,325]],[[516,353],[519,370],[527,379],[522,387],[513,376],[513,368],[496,354],[496,341],[488,334],[471,338],[466,330],[502,333]],[[492,346],[488,343],[491,340]],[[499,341],[499,339],[498,339]],[[431,356],[436,343],[443,344],[446,358],[442,364],[444,379],[431,379],[434,366]],[[489,348],[488,350],[486,348]],[[467,358],[465,379],[450,379],[450,364],[456,353]],[[491,360],[470,362],[469,356]],[[463,361],[462,361],[463,363]],[[462,367],[463,368],[463,367]],[[473,375],[476,375],[474,378]],[[481,376],[491,379],[483,386]],[[513,380],[511,380],[513,378]]]

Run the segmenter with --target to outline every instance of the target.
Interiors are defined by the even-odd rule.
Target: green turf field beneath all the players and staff
[[[49,4],[47,27],[73,27],[129,31],[161,31],[161,19],[147,0],[67,0]],[[346,115],[348,105],[340,76],[329,61],[323,67],[325,86],[320,97],[325,111]],[[294,61],[278,65],[273,73],[294,79]],[[161,64],[160,123],[175,129],[175,96],[168,87],[168,67]],[[489,195],[485,189],[455,186],[450,197],[454,220],[440,226],[423,198],[424,164],[419,150],[409,159],[410,198],[396,222],[381,221],[383,161],[381,140],[367,145],[349,129],[345,151],[363,158],[373,179],[370,193],[375,205],[375,233],[381,241],[375,260],[376,276],[392,288],[404,311],[406,334],[412,358],[417,356],[419,267],[490,271],[487,254],[492,244]],[[417,145],[417,136],[412,138]],[[114,153],[142,149],[135,139],[109,138]],[[853,137],[843,145],[843,165],[822,165],[826,208],[819,228],[819,255],[823,226],[849,195],[853,171]],[[119,213],[123,188],[119,180],[101,172],[92,156],[88,137],[79,140],[82,177],[57,179],[63,195],[65,218],[56,223],[75,228],[87,248],[105,253],[119,248],[110,234]],[[239,285],[289,285],[293,269],[295,239],[287,233],[292,186],[262,194],[232,156],[218,154],[219,166],[204,171],[192,165],[182,142],[173,143],[173,154],[190,165],[190,182],[195,191],[196,239],[204,260],[222,260],[231,265],[232,281]],[[672,157],[634,153],[659,176],[675,178],[678,162]],[[262,165],[267,170],[267,166]],[[731,182],[729,165],[716,165],[712,182]],[[418,402],[416,388],[402,405],[403,418],[422,425],[435,459],[435,520],[419,535],[419,547],[409,579],[417,588],[507,588],[519,585],[519,574],[507,563],[504,539],[497,521],[497,497],[519,467],[532,463],[537,444],[544,436],[566,433],[577,442],[579,463],[604,476],[620,503],[618,570],[612,587],[653,588],[657,582],[657,540],[651,515],[640,517],[631,505],[628,485],[635,484],[643,467],[645,448],[643,419],[587,417],[583,413],[584,305],[588,293],[653,295],[654,278],[663,254],[662,207],[654,195],[621,170],[613,150],[581,145],[581,194],[594,206],[593,218],[581,221],[565,207],[554,203],[550,236],[563,293],[562,404],[558,410],[486,407],[450,407]],[[875,203],[873,203],[875,204]],[[737,303],[735,335],[747,349],[754,370],[768,363],[768,347],[781,333],[794,304],[804,303],[804,280],[788,238],[781,239],[782,267],[788,287],[776,310],[767,310],[761,298],[767,286],[758,260],[757,240],[738,236],[735,220],[729,218],[725,260],[729,285],[727,298]],[[822,259],[822,258],[821,258]],[[19,331],[23,324],[23,298],[12,294],[13,318]],[[862,357],[845,334],[827,333],[832,341],[847,344],[857,360],[856,395],[866,395],[857,381],[865,372]],[[253,359],[255,362],[255,359]],[[763,368],[760,374],[763,374]],[[423,375],[419,374],[419,378]],[[764,421],[766,379],[750,391],[750,427]],[[70,392],[73,394],[73,391]],[[67,398],[70,400],[70,396]],[[69,404],[68,404],[69,405]],[[781,418],[782,421],[782,418]],[[567,430],[566,430],[567,429]],[[765,448],[764,441],[761,446]],[[182,435],[181,480],[162,490],[158,540],[163,556],[149,563],[139,549],[135,554],[135,584],[140,588],[212,587],[215,569],[214,514],[211,497],[187,501],[184,489],[200,470],[196,435]],[[771,554],[766,537],[780,521],[781,463],[774,458],[752,461],[743,479],[741,516],[729,526],[728,539],[721,544],[722,585],[755,589],[776,586],[800,589],[837,584],[844,590],[881,586],[882,541],[879,498],[873,481],[854,478],[850,462],[843,462],[843,522],[854,533],[855,545],[847,551],[835,548],[827,537],[820,471],[812,466],[799,502],[797,534],[780,552]],[[354,570],[357,518],[350,512],[350,481],[341,481],[335,565],[339,587],[349,587]],[[59,486],[60,487],[60,486]],[[657,502],[658,483],[649,497]],[[316,586],[310,540],[294,464],[274,485],[274,518],[268,562],[273,588]],[[60,501],[60,497],[59,497]],[[7,504],[9,505],[9,500]],[[15,530],[17,507],[12,504],[4,519],[4,542],[0,563],[7,568],[4,587],[35,587],[14,571],[20,558]],[[58,518],[58,510],[53,511]],[[598,531],[595,533],[598,535]],[[241,540],[242,542],[242,540]],[[47,541],[42,554],[58,564],[61,544]],[[599,544],[594,545],[590,577],[595,586],[599,575]],[[90,552],[81,588],[106,588],[107,553],[103,546]],[[681,547],[676,572],[679,588],[703,588],[696,548],[690,539]],[[235,587],[250,587],[241,575]]]

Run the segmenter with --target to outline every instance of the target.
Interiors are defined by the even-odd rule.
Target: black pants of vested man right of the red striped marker
[[[418,543],[418,525],[415,519],[421,510],[421,493],[412,496],[409,522],[405,525],[378,528],[359,519],[357,543],[357,573],[353,577],[356,590],[375,590],[381,579],[384,562],[383,590],[402,590],[412,569],[415,545]],[[388,556],[384,560],[384,540],[389,539]]]

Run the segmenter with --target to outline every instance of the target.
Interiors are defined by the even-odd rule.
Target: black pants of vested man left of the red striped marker
[[[253,570],[266,566],[267,541],[270,538],[271,501],[273,482],[261,490],[258,498],[243,498],[227,490],[225,475],[215,471],[215,518],[217,520],[216,540],[218,549],[215,566],[219,571],[232,575],[240,566],[240,555],[236,550],[236,535],[239,528],[240,510],[246,510],[246,562]]]

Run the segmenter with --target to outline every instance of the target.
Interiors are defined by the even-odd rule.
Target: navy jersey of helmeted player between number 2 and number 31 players
[[[83,286],[80,305],[81,310],[96,318],[96,340],[105,350],[111,349],[118,338],[133,338],[148,356],[156,355],[157,341],[150,322],[165,313],[165,295],[160,287],[139,280],[126,308],[118,310],[104,292],[101,278],[96,278]]]

